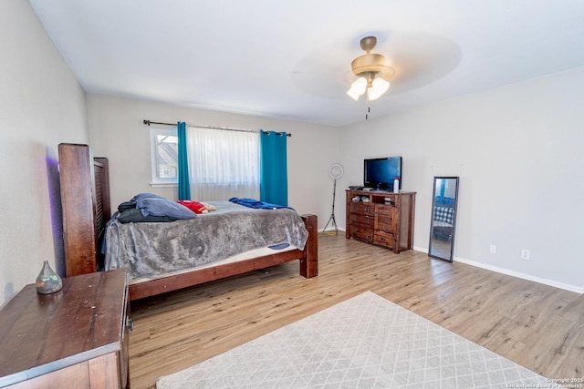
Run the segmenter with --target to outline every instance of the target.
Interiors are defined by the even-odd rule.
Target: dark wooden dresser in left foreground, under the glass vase
[[[26,285],[0,312],[0,387],[129,387],[126,271]]]

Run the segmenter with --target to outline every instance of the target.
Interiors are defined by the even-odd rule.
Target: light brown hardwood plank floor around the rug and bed
[[[584,295],[320,234],[318,277],[292,261],[132,302],[130,383],[151,388],[361,292],[384,298],[547,378],[584,377]]]

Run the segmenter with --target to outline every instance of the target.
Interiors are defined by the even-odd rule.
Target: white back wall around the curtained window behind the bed
[[[339,151],[337,128],[94,94],[88,95],[88,111],[94,155],[110,159],[114,209],[140,192],[177,198],[176,188],[150,185],[150,135],[143,119],[163,123],[180,120],[188,124],[291,133],[287,142],[288,203],[299,213],[317,214],[319,224],[326,223],[330,216],[332,181],[328,179],[328,167],[336,162]],[[330,199],[323,196],[325,191],[330,191]]]

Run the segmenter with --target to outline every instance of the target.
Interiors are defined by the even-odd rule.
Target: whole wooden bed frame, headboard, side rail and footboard
[[[108,159],[93,158],[88,145],[71,143],[59,144],[58,156],[67,277],[98,271],[103,265],[99,254],[101,242],[111,216]],[[318,275],[318,219],[316,215],[301,217],[308,230],[304,250],[284,251],[130,284],[130,301],[294,260],[299,260],[302,276],[315,277]]]

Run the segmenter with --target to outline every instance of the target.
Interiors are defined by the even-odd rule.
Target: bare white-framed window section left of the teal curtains
[[[178,169],[178,138],[176,129],[150,128],[152,184],[176,184]]]

